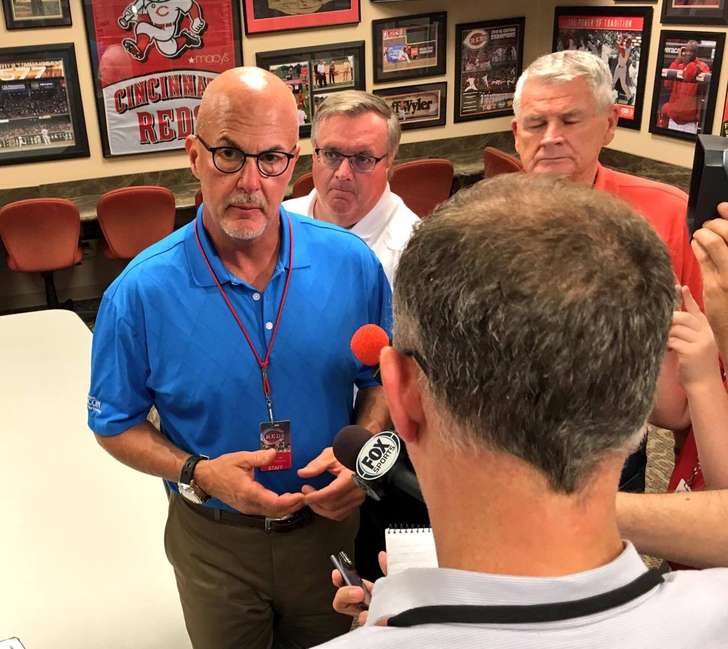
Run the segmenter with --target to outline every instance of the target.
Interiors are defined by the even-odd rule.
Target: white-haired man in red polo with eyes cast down
[[[513,109],[516,150],[524,170],[566,175],[629,203],[665,242],[676,281],[690,287],[700,301],[700,269],[690,249],[685,219],[687,195],[599,163],[599,153],[614,138],[619,119],[606,63],[593,54],[571,50],[542,56],[518,80]],[[690,425],[672,353],[665,359],[650,422],[675,431]],[[643,444],[625,465],[623,490],[644,491],[646,461]]]

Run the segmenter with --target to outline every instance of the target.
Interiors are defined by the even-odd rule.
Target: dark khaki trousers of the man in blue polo
[[[290,532],[211,521],[172,494],[165,550],[195,649],[311,647],[341,635],[351,618],[331,607],[330,554],[353,556],[358,514],[314,515]]]

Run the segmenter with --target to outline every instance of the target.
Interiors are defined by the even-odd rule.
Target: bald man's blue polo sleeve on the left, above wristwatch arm
[[[119,288],[104,294],[94,327],[88,425],[98,435],[118,435],[143,422],[154,403],[143,309]]]

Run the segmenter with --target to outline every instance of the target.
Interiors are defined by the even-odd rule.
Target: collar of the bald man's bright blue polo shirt
[[[187,256],[187,263],[190,265],[190,270],[192,272],[192,279],[198,286],[215,286],[215,280],[212,278],[212,275],[207,268],[207,264],[200,254],[200,249],[197,247],[197,241],[195,240],[195,227],[197,227],[198,232],[200,233],[200,243],[202,243],[202,247],[205,249],[205,253],[210,260],[210,265],[215,271],[220,283],[227,283],[233,286],[248,286],[247,282],[236,277],[227,268],[225,268],[220,260],[210,236],[207,234],[207,231],[202,225],[202,208],[203,206],[200,205],[197,209],[197,216],[195,217],[195,220],[190,223],[190,227],[185,234],[185,254]],[[281,207],[278,219],[281,245],[278,251],[278,261],[276,261],[276,267],[273,270],[271,280],[275,278],[276,275],[283,273],[288,267],[288,251],[291,246],[291,241],[288,236],[289,221],[291,222],[293,231],[293,269],[307,268],[311,265],[305,228],[301,226],[301,223],[297,218],[292,217]]]

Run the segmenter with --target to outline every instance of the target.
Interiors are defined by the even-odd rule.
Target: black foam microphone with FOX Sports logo
[[[374,500],[390,487],[425,502],[417,476],[404,463],[402,442],[392,431],[372,435],[362,426],[344,426],[334,438],[334,456],[354,472],[354,481]]]

